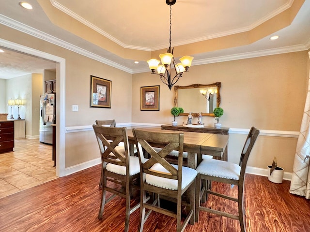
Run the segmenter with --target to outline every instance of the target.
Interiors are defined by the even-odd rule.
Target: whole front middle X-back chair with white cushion
[[[183,132],[151,132],[133,129],[138,157],[140,160],[140,225],[139,231],[143,231],[143,225],[152,211],[176,218],[177,232],[183,232],[188,222],[194,224],[194,204],[195,204],[195,178],[197,171],[192,168],[183,167]],[[144,148],[150,155],[150,159],[143,161]],[[154,147],[163,147],[154,149]],[[178,165],[171,164],[165,158],[173,150],[178,151]],[[186,197],[186,190],[190,190],[190,203],[182,201],[182,196]],[[154,193],[157,197],[152,203],[147,201],[146,193]],[[160,207],[160,197],[164,196],[174,199],[176,202],[176,213],[170,209]],[[182,205],[187,206],[188,214],[181,221]],[[189,209],[188,209],[189,206]],[[146,214],[146,209],[148,210]]]

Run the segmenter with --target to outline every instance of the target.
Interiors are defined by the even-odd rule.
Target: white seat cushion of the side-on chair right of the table
[[[199,174],[239,180],[241,167],[232,162],[203,159],[196,168]]]

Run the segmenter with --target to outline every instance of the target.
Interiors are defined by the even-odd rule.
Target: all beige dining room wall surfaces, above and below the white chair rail
[[[92,125],[96,119],[115,118],[118,123],[171,123],[173,90],[157,75],[130,74],[0,25],[1,37],[66,59],[65,126]],[[220,118],[223,127],[299,131],[305,103],[309,61],[306,52],[241,59],[192,66],[178,85],[221,82]],[[90,108],[90,75],[112,81],[111,109]],[[140,87],[160,85],[160,111],[140,111]],[[78,104],[79,111],[72,112]],[[186,117],[179,116],[182,123]],[[195,119],[196,120],[196,119]],[[214,118],[203,117],[212,126]],[[231,134],[229,160],[237,162],[246,135]],[[292,172],[296,138],[259,137],[249,165],[266,168],[277,156],[279,166]],[[99,158],[93,131],[66,133],[65,166]]]

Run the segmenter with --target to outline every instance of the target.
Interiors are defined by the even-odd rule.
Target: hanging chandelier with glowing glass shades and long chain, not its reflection
[[[170,30],[169,30],[169,48],[167,53],[160,54],[160,61],[157,59],[148,60],[149,67],[152,71],[151,74],[157,74],[160,80],[169,87],[171,90],[172,86],[179,80],[184,72],[188,72],[188,68],[191,66],[193,57],[184,56],[180,58],[181,63],[177,63],[173,57],[173,47],[171,49],[171,6],[176,0],[166,0],[167,5],[170,5]],[[174,73],[172,70],[174,69]],[[157,73],[155,71],[157,70]]]

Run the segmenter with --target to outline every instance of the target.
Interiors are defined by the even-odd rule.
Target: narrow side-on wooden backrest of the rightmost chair
[[[244,179],[244,175],[245,175],[247,163],[248,163],[248,157],[251,153],[251,150],[255,144],[255,141],[256,141],[259,133],[260,133],[260,131],[258,129],[256,129],[255,127],[252,127],[251,130],[248,132],[248,137],[247,137],[246,142],[243,146],[241,156],[240,156],[240,161],[239,161],[239,166],[241,167],[239,180]]]

